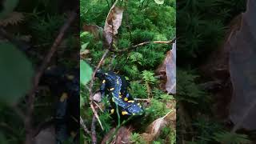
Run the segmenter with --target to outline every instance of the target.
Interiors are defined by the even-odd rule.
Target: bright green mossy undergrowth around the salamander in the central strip
[[[81,27],[86,24],[103,28],[111,3],[113,2],[109,1],[108,5],[106,1],[101,0],[90,2],[82,0],[80,2]],[[122,6],[124,7],[124,13],[122,26],[118,29],[117,35],[116,47],[118,50],[129,48],[141,42],[168,41],[175,37],[175,1],[166,1],[163,5],[147,0],[141,2],[124,1]],[[80,38],[82,45],[90,51],[84,61],[94,69],[107,48],[104,47],[102,39],[96,39],[94,35],[88,32],[81,31]],[[124,53],[110,52],[102,64],[102,70],[112,70],[126,77],[130,82],[129,92],[134,98],[150,98],[150,103],[142,101],[146,114],[141,118],[132,120],[134,131],[131,142],[143,143],[139,134],[145,132],[146,127],[155,119],[161,118],[174,109],[166,106],[166,103],[173,102],[174,98],[159,89],[160,81],[155,77],[155,70],[162,64],[166,52],[170,49],[171,45],[150,43]],[[98,90],[99,86],[100,82],[96,80],[93,91]],[[82,118],[84,118],[86,126],[90,128],[93,113],[90,110],[89,93],[86,88],[81,90],[81,99]],[[105,99],[102,100],[101,104],[104,107],[108,105]],[[104,112],[104,110],[98,112],[98,114],[104,127],[104,130],[101,130],[98,122],[96,122],[96,132],[98,142],[100,142],[110,129],[117,126],[118,119],[111,118],[110,114]],[[174,142],[174,130],[170,127],[166,127],[155,142],[164,142],[166,136],[169,136],[170,133],[172,134],[170,139]],[[83,137],[85,142],[91,142],[90,135],[85,134]]]

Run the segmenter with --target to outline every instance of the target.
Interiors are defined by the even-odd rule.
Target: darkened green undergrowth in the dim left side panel
[[[10,17],[9,22],[6,21],[5,18],[0,20],[1,22],[7,23],[6,26],[1,26],[1,29],[5,30],[7,34],[10,34],[10,39],[14,38],[15,41],[1,37],[0,43],[10,42],[18,51],[22,51],[23,57],[27,58],[35,73],[36,70],[38,70],[38,67],[42,66],[43,58],[46,57],[47,52],[50,50],[50,46],[52,46],[54,39],[58,36],[60,28],[66,22],[66,19],[68,18],[68,14],[66,13],[67,10],[60,10],[58,1],[8,0],[2,2],[18,2],[18,5],[14,9],[17,15],[14,15],[14,17],[11,17],[11,15],[6,16],[6,18]],[[1,12],[2,11],[0,11],[0,13]],[[58,52],[54,54],[52,61],[49,63],[50,66],[58,65],[70,70],[78,65],[77,58],[74,58],[71,55],[77,54],[79,49],[79,38],[78,36],[76,37],[74,33],[78,34],[78,31],[75,31],[74,27],[70,26],[70,29],[66,31],[62,44],[58,47]],[[12,59],[11,55],[9,55],[10,62],[13,61]],[[19,62],[22,63],[22,61],[23,59],[20,58],[13,64],[10,63],[10,67],[19,64]],[[19,66],[19,69],[20,70],[13,70],[12,73],[14,73],[14,75],[20,75],[21,71],[27,71],[26,67],[22,67],[22,65]],[[14,77],[14,75],[12,75],[12,77]],[[27,83],[23,84],[21,82],[23,81],[21,78],[17,79],[21,89],[27,85]],[[44,78],[41,80],[34,98],[33,122],[31,123],[34,129],[37,129],[39,124],[54,117],[56,108],[55,102],[59,96],[56,94],[56,90],[50,90],[49,86],[42,84],[43,81],[45,81]],[[51,79],[50,81],[56,80]],[[9,87],[8,90],[9,89],[10,91],[15,91],[18,88],[12,86]],[[59,89],[61,90],[62,88]],[[27,91],[28,90],[26,90],[26,94]],[[17,98],[18,100],[11,105],[6,105],[6,103],[1,102],[0,143],[25,142],[26,130],[23,122],[25,118],[22,118],[18,111],[21,111],[21,113],[26,116],[26,110],[29,107],[27,104],[28,97],[25,97],[26,94],[22,94],[22,97]],[[10,95],[7,94],[6,96],[6,99],[11,99]]]

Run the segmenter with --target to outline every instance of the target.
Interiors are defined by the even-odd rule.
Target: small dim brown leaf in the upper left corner
[[[10,13],[5,19],[0,21],[0,26],[17,25],[19,22],[24,20],[24,15],[19,12]]]

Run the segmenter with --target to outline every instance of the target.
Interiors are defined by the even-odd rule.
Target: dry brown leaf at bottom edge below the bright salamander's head
[[[106,142],[110,141],[110,137],[114,134],[115,128],[110,130],[108,134],[103,138],[102,144],[106,144]],[[119,128],[117,134],[110,143],[113,144],[121,144],[121,143],[130,143],[130,135],[131,130],[127,129],[125,126]]]

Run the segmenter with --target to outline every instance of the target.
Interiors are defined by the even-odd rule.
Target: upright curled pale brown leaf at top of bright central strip
[[[118,1],[116,1],[118,2]],[[104,37],[108,45],[114,41],[114,35],[118,34],[118,29],[122,24],[122,13],[123,8],[115,6],[111,7],[109,14],[107,14],[105,26],[104,26]]]

